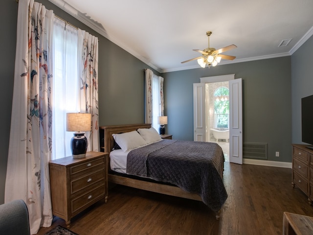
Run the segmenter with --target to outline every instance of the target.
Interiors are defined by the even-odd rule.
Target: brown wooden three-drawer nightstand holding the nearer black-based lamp
[[[86,158],[72,156],[49,162],[53,214],[70,219],[95,202],[108,198],[108,153],[87,152]]]

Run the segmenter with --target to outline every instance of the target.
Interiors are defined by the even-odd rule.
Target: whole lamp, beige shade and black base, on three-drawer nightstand
[[[70,140],[70,148],[74,159],[86,157],[88,141],[84,131],[90,130],[91,114],[67,113],[67,131],[75,131]]]

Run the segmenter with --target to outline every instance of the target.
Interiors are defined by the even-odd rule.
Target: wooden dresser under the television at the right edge
[[[313,201],[313,150],[305,144],[292,144],[292,187],[297,186]]]

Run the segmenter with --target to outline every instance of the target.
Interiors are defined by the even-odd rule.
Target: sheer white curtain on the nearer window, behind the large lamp
[[[70,156],[73,132],[66,131],[66,113],[81,112],[80,81],[78,75],[78,31],[55,18],[53,30],[53,157]],[[83,113],[83,112],[82,112]],[[84,112],[85,113],[85,112]]]

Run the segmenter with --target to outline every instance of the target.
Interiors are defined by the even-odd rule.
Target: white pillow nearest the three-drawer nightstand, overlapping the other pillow
[[[147,142],[136,131],[112,134],[112,136],[124,152],[147,145]]]

